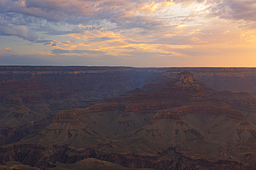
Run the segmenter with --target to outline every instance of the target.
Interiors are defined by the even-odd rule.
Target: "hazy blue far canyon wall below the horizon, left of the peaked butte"
[[[109,96],[93,95],[100,100],[117,96],[127,90],[144,84],[145,78],[158,68],[134,67],[0,67],[0,78],[5,81],[17,78],[19,81],[39,81],[45,85],[53,85],[56,89],[74,89],[88,93],[94,89]],[[116,93],[113,92],[117,91]],[[119,92],[118,92],[119,91]],[[84,97],[84,96],[82,96]]]

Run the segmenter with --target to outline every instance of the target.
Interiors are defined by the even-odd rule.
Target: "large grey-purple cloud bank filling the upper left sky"
[[[158,12],[174,3],[184,2],[191,0],[0,0],[0,12],[4,17],[8,16],[6,21],[9,21],[13,27],[12,32],[2,31],[2,34],[37,41],[36,32],[44,32],[49,36],[93,30],[119,32],[137,28],[142,30],[140,34],[163,32],[170,27],[170,24],[165,16],[159,19],[161,16]],[[35,29],[28,27],[35,23],[40,26]],[[53,28],[54,25],[63,27],[66,24],[73,25],[74,28],[71,27],[70,30]],[[8,30],[7,26],[5,30]]]

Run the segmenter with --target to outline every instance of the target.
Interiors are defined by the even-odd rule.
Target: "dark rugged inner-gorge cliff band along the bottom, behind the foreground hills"
[[[78,151],[69,148],[67,145],[55,145],[52,147],[40,147],[36,145],[17,145],[14,147],[8,147],[0,149],[2,155],[6,155],[0,158],[0,163],[17,160],[22,164],[30,164],[30,166],[36,166],[40,169],[49,169],[57,167],[56,162],[73,164],[79,160],[86,158],[96,158],[98,160],[104,160],[115,164],[120,164],[124,167],[133,168],[151,168],[151,169],[241,169],[247,170],[253,167],[246,166],[237,161],[219,160],[217,162],[210,162],[208,160],[194,160],[188,157],[181,156],[181,153],[177,152],[175,148],[168,148],[165,151],[158,153],[158,155],[167,156],[168,153],[172,153],[170,159],[158,160],[155,156],[140,156],[140,155],[122,155],[118,153],[100,153],[95,149],[86,149],[84,151]],[[51,153],[51,151],[54,151]],[[42,158],[42,156],[44,156]],[[120,168],[120,167],[119,167]]]

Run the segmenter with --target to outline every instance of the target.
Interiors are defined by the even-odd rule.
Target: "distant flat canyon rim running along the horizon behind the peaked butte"
[[[44,76],[47,74],[122,74],[125,78],[136,78],[136,85],[142,87],[143,81],[151,83],[154,78],[165,71],[179,73],[188,70],[206,86],[219,91],[232,90],[246,91],[255,94],[256,68],[254,67],[86,67],[86,66],[1,66],[0,78],[31,78],[31,76]],[[126,74],[126,75],[125,75]],[[167,73],[165,73],[167,74]],[[17,76],[19,75],[19,76]],[[131,81],[131,80],[130,80]],[[134,79],[132,80],[134,81]],[[140,82],[138,82],[140,81]],[[140,83],[140,85],[138,85]]]

